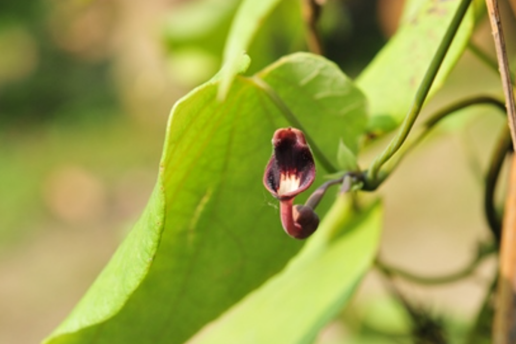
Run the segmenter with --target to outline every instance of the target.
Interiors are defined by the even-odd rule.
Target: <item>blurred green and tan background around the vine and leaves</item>
[[[155,182],[170,108],[220,67],[238,3],[0,3],[0,343],[49,334],[131,229]],[[402,3],[328,0],[327,56],[358,75],[395,31]],[[486,21],[474,40],[492,51]],[[251,71],[297,50],[306,50],[299,2],[285,0],[250,48]],[[466,52],[425,112],[472,90],[500,94],[497,75]],[[432,135],[381,189],[386,260],[428,274],[454,271],[489,237],[480,177],[503,119],[485,108],[469,112]],[[491,261],[451,286],[401,287],[460,332],[493,272]],[[405,317],[372,273],[319,342],[396,342]],[[379,339],[382,331],[394,336]]]

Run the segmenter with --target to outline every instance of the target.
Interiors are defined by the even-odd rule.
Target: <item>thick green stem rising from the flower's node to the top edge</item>
[[[459,29],[460,23],[462,22],[462,19],[464,18],[464,15],[466,14],[467,8],[469,7],[471,1],[472,0],[461,0],[459,7],[457,8],[457,11],[455,12],[455,15],[451,20],[451,23],[448,26],[446,33],[444,34],[444,37],[437,49],[436,54],[433,56],[432,61],[430,62],[428,70],[423,77],[423,81],[421,82],[420,87],[417,89],[409,112],[407,113],[404,121],[401,123],[398,133],[389,143],[387,148],[373,161],[369,167],[365,178],[366,189],[374,190],[378,187],[378,173],[381,167],[399,150],[409,135],[410,129],[416,121],[417,116],[421,112],[421,108],[425,103],[428,92],[430,91],[430,88],[433,84],[433,80],[436,78],[436,75],[439,72],[444,57],[448,52],[451,42],[453,41],[457,30]]]

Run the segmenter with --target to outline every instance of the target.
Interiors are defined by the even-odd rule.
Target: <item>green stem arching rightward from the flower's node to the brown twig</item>
[[[388,162],[386,162],[386,166],[384,169],[382,169],[376,178],[376,184],[373,185],[374,189],[376,189],[381,183],[385,181],[386,178],[391,175],[392,171],[398,167],[401,160],[407,156],[407,153],[410,152],[412,149],[415,148],[415,146],[430,133],[431,129],[433,129],[441,120],[446,118],[448,115],[456,113],[459,110],[462,110],[464,108],[474,106],[474,105],[492,105],[495,106],[497,109],[501,110],[501,113],[505,113],[505,105],[502,101],[490,97],[490,96],[476,96],[472,98],[468,98],[462,101],[459,101],[457,103],[448,105],[444,107],[443,109],[437,111],[434,113],[423,125],[422,130],[420,131],[417,136],[407,142],[399,151],[397,154],[397,158],[391,159]],[[366,186],[369,186],[366,184]],[[374,189],[365,189],[365,190],[374,190]]]

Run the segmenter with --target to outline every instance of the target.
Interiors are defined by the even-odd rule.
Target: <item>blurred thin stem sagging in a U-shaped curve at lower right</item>
[[[470,276],[480,265],[482,260],[486,258],[487,256],[493,254],[496,252],[495,245],[486,245],[486,244],[479,244],[477,253],[475,257],[470,261],[469,264],[466,265],[465,268],[453,272],[450,274],[446,274],[443,276],[419,276],[415,275],[411,272],[390,266],[388,264],[383,263],[379,258],[375,261],[375,267],[377,267],[381,272],[385,273],[386,275],[390,276],[399,276],[402,279],[405,279],[410,282],[418,283],[418,284],[424,284],[427,286],[430,285],[440,285],[440,284],[447,284],[447,283],[453,283],[457,282],[459,280],[464,279],[467,276]]]

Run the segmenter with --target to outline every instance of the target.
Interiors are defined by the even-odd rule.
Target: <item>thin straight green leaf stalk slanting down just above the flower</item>
[[[270,87],[263,79],[252,76],[249,78],[251,83],[253,83],[256,87],[261,89],[274,103],[278,109],[281,111],[285,119],[292,124],[294,127],[300,129],[304,136],[307,138],[308,143],[310,144],[310,148],[312,149],[312,152],[314,153],[317,160],[320,162],[322,167],[326,170],[328,173],[335,173],[337,172],[337,169],[333,166],[333,164],[330,162],[330,160],[322,153],[322,151],[319,149],[315,141],[311,138],[310,134],[308,134],[307,130],[303,128],[303,125],[299,120],[297,119],[296,115],[291,111],[291,109],[288,108],[288,106],[283,102],[281,97],[276,93],[272,87]]]

